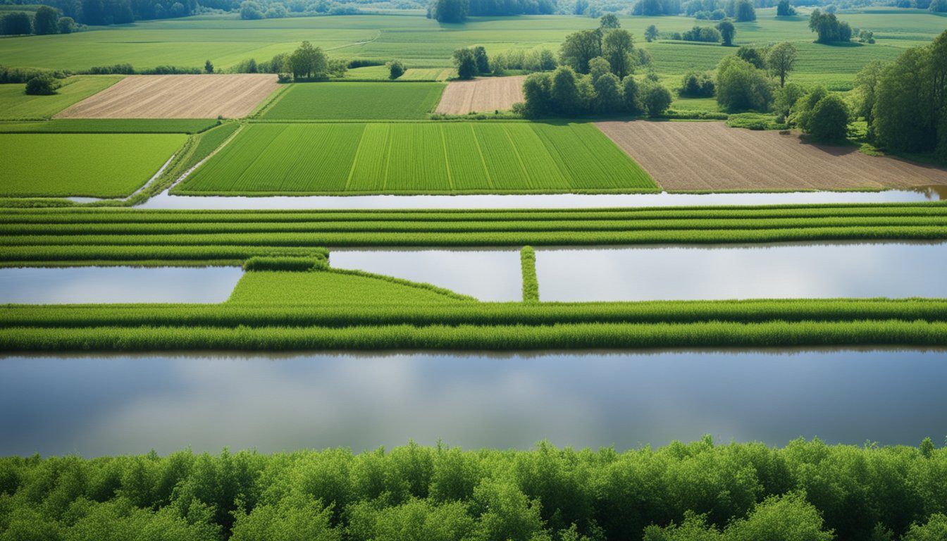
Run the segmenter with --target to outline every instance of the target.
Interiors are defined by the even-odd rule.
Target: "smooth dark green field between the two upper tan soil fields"
[[[383,66],[384,67],[384,66]],[[438,106],[438,82],[297,82],[259,116],[264,120],[410,120]]]

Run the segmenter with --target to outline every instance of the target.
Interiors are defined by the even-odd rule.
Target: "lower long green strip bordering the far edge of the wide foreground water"
[[[565,350],[947,346],[947,323],[846,322],[689,324],[589,323],[526,327],[80,327],[0,329],[3,352],[170,350]]]

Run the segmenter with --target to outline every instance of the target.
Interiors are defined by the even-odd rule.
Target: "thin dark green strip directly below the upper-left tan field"
[[[0,134],[197,134],[216,125],[207,118],[54,118],[0,122]]]

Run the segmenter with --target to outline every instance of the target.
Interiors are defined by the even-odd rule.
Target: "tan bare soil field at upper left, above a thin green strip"
[[[277,87],[270,74],[134,75],[56,118],[246,117]]]

